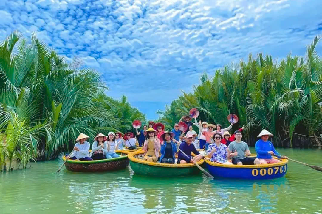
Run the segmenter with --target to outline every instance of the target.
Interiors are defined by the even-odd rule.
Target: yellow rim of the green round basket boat
[[[156,166],[156,167],[169,167],[169,168],[183,168],[183,167],[195,167],[195,165],[193,163],[188,163],[188,164],[164,164],[164,163],[159,163],[159,162],[147,162],[145,160],[139,159],[139,158],[135,158],[135,155],[138,154],[144,154],[145,151],[143,150],[138,150],[135,152],[131,152],[128,154],[128,159],[130,161],[136,162],[136,163],[140,163],[140,164],[146,164],[146,165],[150,165],[150,166]],[[204,163],[204,159],[201,159],[197,162],[198,165],[202,165]]]

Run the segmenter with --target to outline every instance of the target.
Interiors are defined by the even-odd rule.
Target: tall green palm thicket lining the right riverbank
[[[233,129],[244,125],[243,137],[251,145],[265,128],[274,134],[276,146],[321,149],[322,58],[315,50],[319,39],[304,57],[273,61],[260,53],[256,58],[249,55],[248,62],[218,69],[213,76],[203,73],[193,92],[183,92],[165,111],[157,112],[159,120],[173,127],[196,107],[198,120],[227,127],[227,115],[236,114],[239,122]]]

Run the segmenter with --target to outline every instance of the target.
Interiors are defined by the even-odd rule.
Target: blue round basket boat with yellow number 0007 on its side
[[[289,160],[281,159],[282,162],[275,164],[261,164],[261,165],[224,165],[214,163],[205,159],[206,167],[211,175],[223,178],[233,179],[273,179],[280,178],[287,172],[287,163]]]

